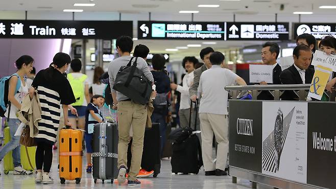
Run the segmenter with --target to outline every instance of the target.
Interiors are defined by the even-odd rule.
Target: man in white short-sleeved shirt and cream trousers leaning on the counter
[[[200,78],[198,94],[202,96],[200,102],[200,121],[202,135],[202,157],[206,176],[227,175],[228,140],[228,91],[225,86],[246,85],[246,82],[231,70],[222,68],[224,55],[214,52],[210,56],[212,67],[205,70]],[[212,138],[215,135],[218,143],[217,161],[212,159]]]

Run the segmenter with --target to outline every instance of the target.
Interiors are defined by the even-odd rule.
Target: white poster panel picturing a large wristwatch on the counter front
[[[307,102],[262,102],[262,173],[307,181]]]

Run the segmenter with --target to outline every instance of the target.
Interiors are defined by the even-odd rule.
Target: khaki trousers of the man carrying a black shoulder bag
[[[147,121],[147,106],[132,101],[118,103],[118,168],[127,167],[127,149],[130,142],[130,129],[133,130],[131,147],[132,160],[128,180],[136,180],[141,166],[143,137]]]

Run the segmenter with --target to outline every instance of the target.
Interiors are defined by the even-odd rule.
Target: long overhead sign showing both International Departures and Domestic
[[[138,38],[187,40],[289,40],[289,23],[138,21]]]

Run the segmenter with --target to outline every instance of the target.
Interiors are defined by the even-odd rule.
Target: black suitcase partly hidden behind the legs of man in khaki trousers
[[[128,145],[127,167],[131,167],[131,145]],[[157,177],[161,169],[160,159],[160,127],[158,123],[153,123],[152,128],[146,128],[145,137],[143,138],[143,152],[141,159],[141,168],[146,171],[154,171],[153,177]]]

